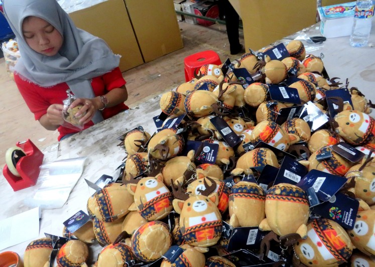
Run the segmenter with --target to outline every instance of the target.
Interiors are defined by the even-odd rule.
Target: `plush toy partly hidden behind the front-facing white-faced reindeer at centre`
[[[228,209],[229,188],[223,181],[214,177],[206,176],[205,178],[196,179],[189,183],[186,188],[186,192],[190,195],[200,195],[201,191],[204,191],[207,187],[212,186],[212,184],[215,184],[214,192],[217,193],[219,197],[217,208],[221,214],[224,214],[224,212]]]

